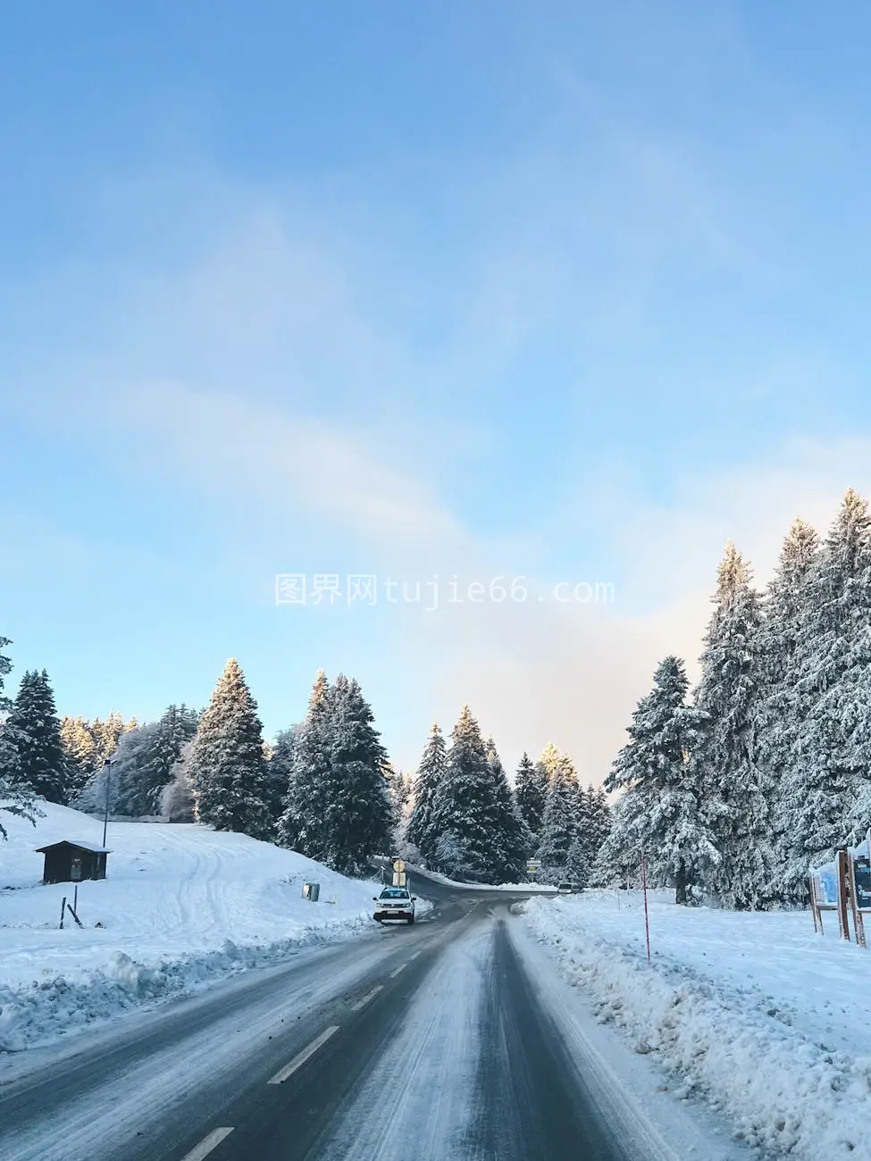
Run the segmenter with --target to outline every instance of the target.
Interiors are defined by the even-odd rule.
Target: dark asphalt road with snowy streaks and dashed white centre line
[[[0,1083],[0,1158],[676,1158],[569,1052],[518,954],[523,896],[412,889],[434,903],[412,926],[302,951]]]

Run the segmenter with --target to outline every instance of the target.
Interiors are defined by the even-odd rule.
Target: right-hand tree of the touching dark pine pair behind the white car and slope
[[[341,874],[363,874],[373,854],[389,853],[394,807],[372,709],[344,673],[330,698],[330,724],[324,861]]]

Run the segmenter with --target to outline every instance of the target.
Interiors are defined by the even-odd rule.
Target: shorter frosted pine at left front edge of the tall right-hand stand
[[[650,882],[674,885],[675,902],[686,903],[689,887],[719,861],[701,801],[698,769],[691,758],[705,727],[704,714],[686,705],[684,663],[667,657],[656,668],[650,693],[639,701],[620,750],[605,779],[622,792],[614,825],[597,859],[597,881],[634,874],[647,856]],[[605,801],[593,794],[595,814]],[[602,827],[599,819],[595,825]]]

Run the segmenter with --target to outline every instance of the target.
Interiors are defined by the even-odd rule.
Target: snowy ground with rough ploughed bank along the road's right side
[[[871,1159],[871,951],[814,935],[807,913],[679,908],[589,892],[531,900],[524,922],[603,1023],[703,1096],[749,1144]],[[830,921],[830,926],[832,926]]]

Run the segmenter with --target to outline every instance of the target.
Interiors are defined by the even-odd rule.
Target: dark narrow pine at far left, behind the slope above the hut
[[[69,769],[60,743],[55,694],[45,670],[24,673],[8,724],[19,731],[16,745],[24,783],[37,798],[65,806]]]

